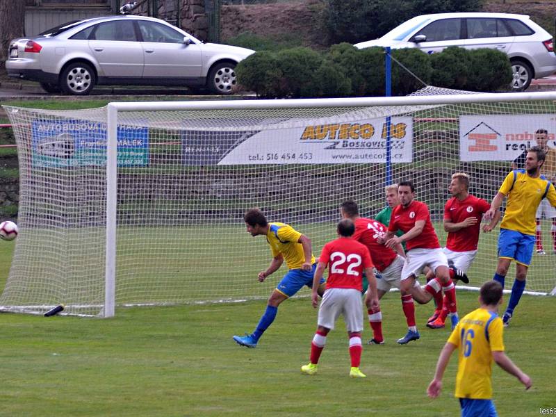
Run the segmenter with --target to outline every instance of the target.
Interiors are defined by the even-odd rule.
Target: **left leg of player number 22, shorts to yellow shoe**
[[[318,359],[325,348],[327,334],[330,330],[334,329],[334,324],[342,312],[341,295],[341,291],[338,291],[338,288],[331,288],[325,291],[318,308],[317,331],[313,336],[313,341],[311,341],[310,361],[307,365],[301,367],[302,373],[313,375],[317,372]],[[361,296],[358,295],[358,297],[359,306],[361,306]]]

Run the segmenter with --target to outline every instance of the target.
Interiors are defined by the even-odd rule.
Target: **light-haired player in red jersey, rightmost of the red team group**
[[[469,177],[463,172],[452,175],[450,182],[450,193],[452,198],[444,206],[444,230],[448,232],[448,239],[443,252],[448,259],[450,278],[461,279],[467,284],[467,271],[477,255],[477,244],[482,215],[489,211],[490,204],[482,198],[469,194]],[[489,224],[484,224],[482,231],[489,232],[496,227],[500,220],[500,211],[496,211],[494,218]],[[427,279],[434,277],[432,272],[427,274]],[[442,306],[436,306],[434,314],[427,322],[431,329],[441,329],[448,316],[450,306],[444,297]]]

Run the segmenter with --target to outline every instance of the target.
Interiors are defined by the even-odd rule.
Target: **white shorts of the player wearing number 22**
[[[318,309],[318,325],[332,330],[340,314],[347,332],[363,332],[361,291],[354,288],[329,288],[325,291]]]

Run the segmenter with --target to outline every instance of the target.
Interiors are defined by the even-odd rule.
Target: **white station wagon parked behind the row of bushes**
[[[507,13],[439,13],[409,19],[389,33],[355,44],[368,47],[419,48],[427,54],[447,47],[491,48],[505,52],[512,63],[514,90],[525,90],[532,79],[556,72],[550,33],[529,16]]]

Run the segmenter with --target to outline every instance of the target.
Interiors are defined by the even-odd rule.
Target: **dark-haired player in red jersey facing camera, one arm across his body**
[[[407,244],[407,257],[402,269],[402,282],[400,291],[404,300],[404,309],[415,316],[415,306],[411,300],[411,288],[414,286],[416,277],[428,266],[434,271],[436,277],[431,279],[425,286],[429,295],[428,300],[434,297],[437,305],[442,304],[442,291],[450,301],[450,317],[452,326],[457,325],[456,293],[455,286],[450,279],[448,271],[448,259],[440,248],[439,238],[436,236],[427,204],[414,200],[415,188],[411,181],[402,181],[398,185],[398,195],[401,204],[392,211],[392,217],[388,232],[386,233],[386,247],[395,247],[398,243]],[[402,236],[394,236],[395,231],[400,229],[404,232]],[[418,300],[422,302],[423,300]],[[425,302],[427,302],[425,301]],[[398,343],[404,344],[417,340],[420,337],[416,325],[411,326],[409,332],[401,338]]]

